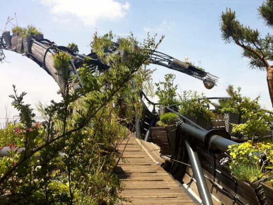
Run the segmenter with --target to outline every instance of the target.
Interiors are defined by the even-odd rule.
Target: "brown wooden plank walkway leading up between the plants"
[[[118,150],[122,152],[126,141]],[[131,202],[120,204],[172,204],[194,205],[193,200],[179,184],[160,166],[163,160],[159,156],[158,146],[132,136],[116,169],[119,179],[125,184],[120,193]]]

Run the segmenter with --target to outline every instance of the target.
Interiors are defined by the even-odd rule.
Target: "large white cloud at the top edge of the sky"
[[[60,22],[77,18],[85,25],[96,25],[97,21],[123,18],[129,10],[129,3],[117,0],[39,0],[48,6],[53,18]]]

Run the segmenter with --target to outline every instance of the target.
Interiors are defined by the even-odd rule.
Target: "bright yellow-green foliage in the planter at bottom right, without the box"
[[[229,146],[230,169],[239,179],[253,183],[272,175],[273,143],[248,141]]]

